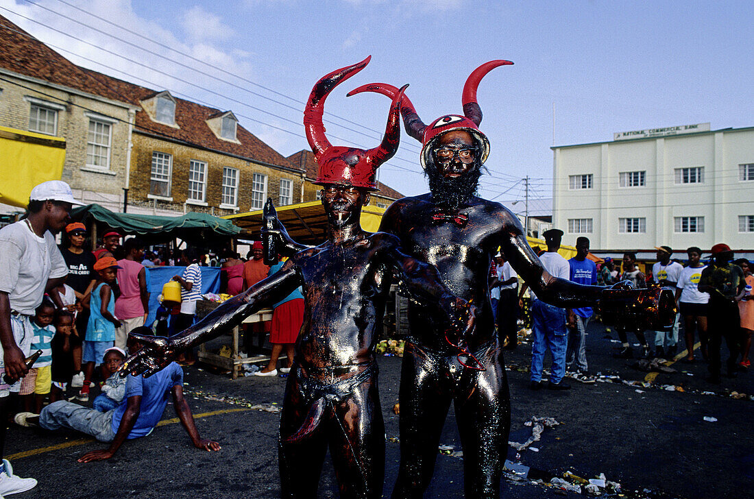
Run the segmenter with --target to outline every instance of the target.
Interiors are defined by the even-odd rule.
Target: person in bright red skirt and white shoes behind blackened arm
[[[270,268],[269,275],[279,271],[283,263],[283,261],[280,261],[277,265],[273,265]],[[288,362],[286,367],[280,368],[280,372],[290,372],[290,366],[293,364],[293,345],[296,344],[296,338],[299,336],[303,322],[304,295],[302,295],[301,287],[299,287],[282,302],[277,302],[272,307],[272,330],[270,332],[272,354],[270,355],[270,363],[265,369],[255,372],[255,376],[277,376],[277,359],[284,348]]]

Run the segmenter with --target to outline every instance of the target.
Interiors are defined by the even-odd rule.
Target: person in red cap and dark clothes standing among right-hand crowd
[[[710,336],[710,383],[720,383],[720,344],[722,338],[728,344],[728,377],[736,376],[738,354],[741,352],[743,337],[740,332],[740,315],[736,298],[743,295],[746,281],[738,265],[731,263],[733,251],[731,246],[719,243],[712,246],[712,262],[703,271],[699,279],[700,292],[710,293],[710,306],[707,309],[707,334]]]

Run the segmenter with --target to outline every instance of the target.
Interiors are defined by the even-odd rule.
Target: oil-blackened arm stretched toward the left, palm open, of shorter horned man
[[[279,302],[301,284],[302,277],[292,260],[289,260],[279,272],[260,280],[241,295],[223,302],[211,314],[185,331],[170,338],[131,335],[144,347],[126,359],[121,367],[121,375],[125,376],[130,372],[135,376],[144,374],[149,377],[167,366],[180,352],[238,326],[246,317],[265,305]]]

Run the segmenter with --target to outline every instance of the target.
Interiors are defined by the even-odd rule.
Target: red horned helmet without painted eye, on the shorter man
[[[325,136],[325,127],[322,124],[323,106],[329,93],[342,81],[351,78],[360,72],[372,56],[367,57],[360,63],[345,68],[336,69],[323,76],[309,94],[308,103],[304,112],[304,127],[306,139],[309,142],[314,158],[319,165],[319,174],[315,184],[342,184],[354,187],[366,188],[371,191],[377,188],[377,168],[395,155],[400,142],[400,99],[403,97],[403,88],[396,89],[393,97],[388,124],[385,127],[385,137],[382,143],[375,148],[364,150],[341,145],[332,145]]]

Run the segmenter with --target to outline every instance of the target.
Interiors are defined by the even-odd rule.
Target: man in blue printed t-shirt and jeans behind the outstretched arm
[[[597,265],[590,259],[589,239],[578,237],[576,240],[576,256],[568,261],[571,268],[571,280],[579,284],[594,286],[597,283]],[[587,365],[587,325],[592,317],[591,307],[568,309],[568,349],[566,351],[566,367],[574,367],[581,375],[589,374]],[[581,381],[584,381],[582,379]]]

